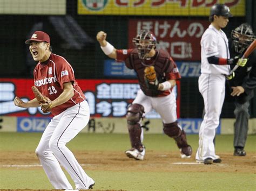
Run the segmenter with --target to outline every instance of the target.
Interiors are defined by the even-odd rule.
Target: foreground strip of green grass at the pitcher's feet
[[[96,189],[114,190],[255,190],[256,175],[245,173],[167,173],[86,171]],[[69,177],[69,176],[68,176]],[[23,180],[23,181],[15,181]],[[70,182],[72,180],[69,178]],[[239,180],[239,181],[238,181]],[[20,185],[22,182],[22,185]],[[43,169],[1,169],[2,189],[53,189]]]

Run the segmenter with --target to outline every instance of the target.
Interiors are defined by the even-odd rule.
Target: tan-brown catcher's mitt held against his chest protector
[[[159,82],[157,80],[157,73],[153,66],[147,66],[144,69],[144,79],[147,88],[151,90],[158,90]]]

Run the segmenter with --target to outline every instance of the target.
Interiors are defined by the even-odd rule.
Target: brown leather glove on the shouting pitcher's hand
[[[41,105],[41,110],[44,113],[50,112],[51,108],[52,108],[52,103],[51,103],[51,100],[49,99],[49,97],[43,96],[41,94],[41,92],[37,89],[36,86],[32,86],[31,89],[32,89],[33,93],[35,94],[37,101]]]

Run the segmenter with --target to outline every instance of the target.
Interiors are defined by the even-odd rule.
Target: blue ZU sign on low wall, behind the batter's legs
[[[186,118],[186,119],[178,119],[179,125],[187,134],[197,134],[199,133],[200,125],[203,119],[197,118]],[[220,122],[221,124],[221,122]],[[216,134],[220,135],[220,124],[216,129]]]

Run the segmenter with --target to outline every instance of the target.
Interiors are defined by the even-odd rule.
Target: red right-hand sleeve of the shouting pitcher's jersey
[[[57,63],[56,77],[62,89],[63,83],[71,82],[73,84],[75,82],[74,70],[65,59],[60,59]]]

